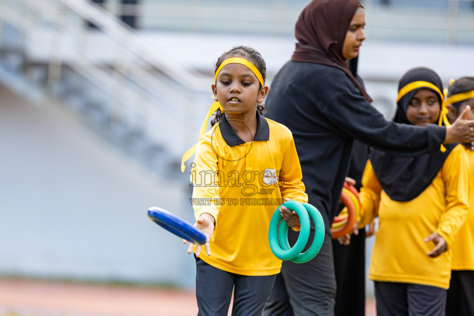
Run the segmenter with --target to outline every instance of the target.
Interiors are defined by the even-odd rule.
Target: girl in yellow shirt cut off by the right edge
[[[474,77],[456,80],[447,93],[447,117],[454,122],[466,106],[474,108]],[[467,119],[474,118],[469,111]],[[469,212],[466,220],[457,232],[452,246],[451,281],[447,291],[447,316],[474,315],[474,151],[470,146],[465,148],[469,158],[471,190]]]

